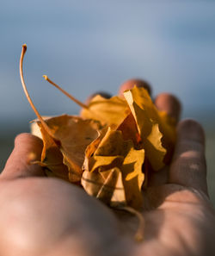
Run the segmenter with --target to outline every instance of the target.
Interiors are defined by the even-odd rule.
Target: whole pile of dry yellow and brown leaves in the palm
[[[82,104],[80,116],[41,117],[23,80],[26,49],[24,45],[22,84],[38,117],[34,133],[35,126],[40,128],[44,143],[38,164],[47,176],[80,185],[109,206],[141,209],[149,170],[159,171],[171,158],[174,120],[159,112],[148,91],[137,86],[125,91],[124,97],[96,95]]]

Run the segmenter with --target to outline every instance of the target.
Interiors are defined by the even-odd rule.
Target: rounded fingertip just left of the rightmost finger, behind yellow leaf
[[[173,117],[176,122],[181,116],[181,103],[177,97],[169,93],[161,93],[155,99],[155,105],[160,111],[165,111],[169,116]]]

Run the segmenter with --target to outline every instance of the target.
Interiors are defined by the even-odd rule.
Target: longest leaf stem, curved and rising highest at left
[[[23,68],[22,68],[22,66],[23,66],[23,59],[24,59],[24,56],[25,56],[26,51],[27,51],[27,45],[24,44],[24,45],[22,46],[22,53],[21,53],[21,57],[20,57],[20,78],[21,78],[21,82],[22,82],[22,88],[23,88],[23,90],[24,90],[24,92],[25,92],[25,95],[26,95],[26,97],[27,97],[27,99],[28,99],[28,103],[30,103],[32,109],[34,110],[34,113],[36,114],[36,116],[37,116],[38,119],[40,120],[40,122],[41,122],[43,128],[45,128],[45,130],[46,130],[46,132],[47,132],[48,134],[50,134],[50,135],[53,136],[52,130],[47,126],[46,122],[42,119],[42,117],[40,116],[40,113],[39,113],[38,110],[35,108],[34,103],[32,102],[32,99],[31,99],[31,97],[29,96],[29,93],[28,93],[28,90],[27,90],[27,86],[26,86],[25,81],[24,81],[24,78],[23,78]]]

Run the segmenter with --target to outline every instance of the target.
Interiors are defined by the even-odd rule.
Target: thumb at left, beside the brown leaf
[[[32,134],[19,134],[15,138],[15,147],[1,174],[1,179],[44,176],[40,165],[31,164],[40,160],[43,143]]]

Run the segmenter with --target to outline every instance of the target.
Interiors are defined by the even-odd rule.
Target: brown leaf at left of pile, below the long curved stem
[[[56,116],[50,119],[46,119],[46,124],[52,131],[52,136],[49,135],[42,124],[38,122],[41,128],[41,134],[45,147],[43,151],[43,159],[49,166],[49,159],[54,159],[52,151],[60,151],[63,155],[62,162],[68,167],[69,180],[71,182],[78,182],[82,176],[82,165],[85,155],[85,149],[87,146],[98,137],[98,131],[96,129],[97,123],[82,120],[77,116]],[[50,142],[52,141],[52,143]],[[54,143],[55,147],[52,147]],[[51,147],[50,147],[51,145]],[[50,151],[52,148],[52,151]],[[48,157],[47,157],[47,154]]]

